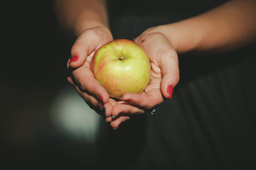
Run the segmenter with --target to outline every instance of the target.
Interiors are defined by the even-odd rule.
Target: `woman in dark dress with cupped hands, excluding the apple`
[[[104,111],[112,128],[120,127],[102,128],[106,166],[252,166],[256,1],[65,0],[56,6],[63,26],[77,36],[68,81]],[[110,98],[89,68],[95,50],[113,37],[135,38],[151,60],[149,86],[143,94],[124,94],[122,101]]]

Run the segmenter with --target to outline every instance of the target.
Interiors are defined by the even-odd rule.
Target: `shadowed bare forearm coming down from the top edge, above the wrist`
[[[60,23],[75,35],[96,26],[108,27],[105,0],[55,0],[55,8]]]

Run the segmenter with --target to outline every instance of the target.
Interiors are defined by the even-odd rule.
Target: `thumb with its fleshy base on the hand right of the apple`
[[[155,43],[155,40],[159,43]],[[151,33],[139,38],[138,43],[144,48],[151,60],[159,63],[161,69],[161,93],[171,98],[172,90],[179,80],[178,55],[164,35]],[[159,47],[158,45],[161,45]]]

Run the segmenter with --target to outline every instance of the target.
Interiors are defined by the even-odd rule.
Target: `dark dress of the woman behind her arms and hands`
[[[225,1],[109,1],[114,39],[174,23]],[[181,80],[151,115],[97,138],[102,168],[256,169],[255,44],[223,54],[179,56]]]

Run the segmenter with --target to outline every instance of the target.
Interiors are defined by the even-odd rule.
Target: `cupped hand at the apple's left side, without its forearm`
[[[68,81],[75,86],[78,94],[95,111],[105,110],[105,116],[111,114],[112,102],[107,91],[95,79],[90,70],[90,62],[95,51],[113,40],[110,30],[97,26],[84,30],[75,41],[68,60]]]

